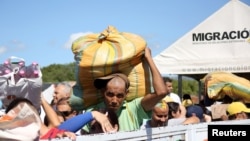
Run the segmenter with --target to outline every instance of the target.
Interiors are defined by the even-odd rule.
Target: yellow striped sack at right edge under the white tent
[[[211,78],[209,78],[211,77]],[[212,72],[202,81],[208,80],[206,92],[214,100],[222,99],[228,95],[232,99],[243,99],[250,103],[250,81],[229,72]]]

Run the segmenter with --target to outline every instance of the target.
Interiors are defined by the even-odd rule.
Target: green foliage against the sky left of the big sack
[[[75,63],[52,64],[41,68],[44,83],[75,81]]]

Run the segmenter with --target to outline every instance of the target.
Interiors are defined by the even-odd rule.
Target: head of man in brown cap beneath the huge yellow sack
[[[129,92],[130,82],[122,73],[114,73],[95,79],[94,86],[102,91],[108,109],[117,111]]]

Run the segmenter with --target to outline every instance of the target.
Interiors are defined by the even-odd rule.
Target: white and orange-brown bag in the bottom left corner
[[[0,117],[0,140],[39,140],[40,117],[27,103],[20,103]]]

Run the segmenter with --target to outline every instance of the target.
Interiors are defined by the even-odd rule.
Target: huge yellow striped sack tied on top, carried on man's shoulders
[[[75,40],[72,52],[76,60],[77,85],[71,105],[83,109],[102,101],[93,85],[94,79],[121,72],[130,80],[127,100],[144,96],[151,90],[151,74],[142,61],[146,41],[133,33],[118,32],[109,26],[102,33],[88,34]]]

